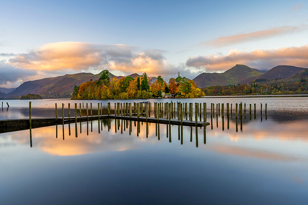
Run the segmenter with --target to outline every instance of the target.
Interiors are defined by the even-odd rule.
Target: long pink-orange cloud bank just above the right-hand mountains
[[[271,69],[277,65],[308,67],[308,44],[271,50],[256,49],[252,52],[230,50],[227,55],[189,57],[186,65],[207,71],[227,70],[236,64],[257,69]]]

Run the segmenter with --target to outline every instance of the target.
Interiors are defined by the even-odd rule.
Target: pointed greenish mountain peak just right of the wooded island
[[[235,85],[247,78],[262,75],[259,70],[246,65],[235,65],[224,73],[201,73],[193,79],[199,88],[213,85]]]

